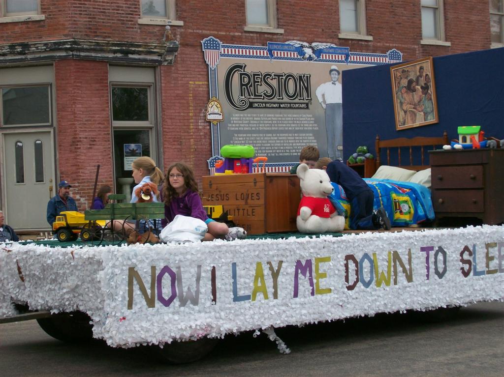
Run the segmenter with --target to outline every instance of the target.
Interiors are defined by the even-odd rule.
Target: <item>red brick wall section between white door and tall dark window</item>
[[[72,184],[79,210],[91,205],[96,165],[100,184],[112,185],[108,65],[65,59],[55,62],[57,165]]]

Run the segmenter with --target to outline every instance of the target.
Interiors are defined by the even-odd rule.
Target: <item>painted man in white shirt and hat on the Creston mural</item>
[[[343,105],[340,70],[332,65],[331,81],[321,84],[315,94],[326,111],[327,153],[332,160],[343,161]]]

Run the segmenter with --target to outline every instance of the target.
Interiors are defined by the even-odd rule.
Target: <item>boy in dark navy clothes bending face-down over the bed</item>
[[[337,183],[345,190],[351,207],[350,229],[390,230],[391,222],[385,208],[380,207],[373,211],[373,192],[355,170],[327,157],[320,159],[315,168],[325,169],[331,182]]]

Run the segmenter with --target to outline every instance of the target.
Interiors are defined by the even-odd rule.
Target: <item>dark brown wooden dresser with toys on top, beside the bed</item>
[[[504,222],[504,149],[429,151],[436,218]]]

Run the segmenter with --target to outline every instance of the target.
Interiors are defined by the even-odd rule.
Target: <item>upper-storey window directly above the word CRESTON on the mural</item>
[[[283,33],[283,29],[277,29],[276,0],[245,0],[245,13],[245,31]]]

